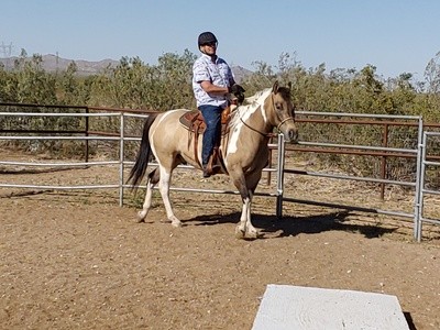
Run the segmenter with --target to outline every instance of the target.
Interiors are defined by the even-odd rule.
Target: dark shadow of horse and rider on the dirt
[[[252,223],[261,230],[263,238],[284,238],[295,237],[300,233],[317,234],[326,231],[348,231],[358,232],[367,239],[381,238],[386,233],[394,232],[395,229],[372,226],[369,223],[346,223],[350,211],[333,211],[307,217],[283,217],[253,215]],[[186,226],[213,226],[221,223],[238,223],[240,212],[229,215],[205,215],[185,221]]]

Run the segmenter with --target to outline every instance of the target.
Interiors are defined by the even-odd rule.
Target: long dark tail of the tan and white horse
[[[132,189],[136,189],[138,185],[141,183],[142,178],[145,175],[146,167],[148,166],[150,157],[151,157],[151,145],[150,145],[150,128],[156,119],[155,113],[150,114],[146,118],[144,130],[142,133],[141,146],[138,152],[136,161],[130,172],[129,178],[127,183],[132,182]]]

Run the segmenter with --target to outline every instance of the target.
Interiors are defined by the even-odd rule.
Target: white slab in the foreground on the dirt
[[[270,284],[252,330],[409,330],[397,297]]]

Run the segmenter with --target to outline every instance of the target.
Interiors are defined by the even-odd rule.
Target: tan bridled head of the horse
[[[290,99],[292,84],[288,87],[278,86],[275,81],[271,97],[265,101],[265,109],[271,123],[283,133],[286,142],[298,142],[298,129],[295,125],[295,109]]]

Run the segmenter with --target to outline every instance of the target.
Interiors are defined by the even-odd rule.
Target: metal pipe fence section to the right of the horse
[[[341,143],[326,143],[326,142],[299,142],[298,146],[292,147],[286,146],[286,152],[312,152],[312,153],[324,153],[326,151],[329,153],[334,153],[336,151],[339,154],[352,154],[352,155],[370,155],[370,156],[382,156],[384,160],[389,156],[398,156],[398,157],[408,157],[414,158],[416,162],[416,174],[414,180],[396,180],[396,179],[387,179],[384,175],[384,170],[382,170],[381,177],[362,177],[362,176],[350,176],[350,175],[342,175],[336,173],[326,173],[326,172],[312,172],[312,170],[302,170],[297,168],[288,167],[284,165],[282,169],[284,175],[309,175],[316,177],[323,177],[330,179],[342,179],[342,180],[353,180],[353,182],[365,182],[365,183],[373,183],[380,184],[382,188],[381,198],[383,199],[383,191],[385,185],[395,185],[395,186],[403,186],[408,187],[414,190],[414,211],[413,212],[404,212],[402,210],[389,210],[389,209],[381,209],[381,208],[370,208],[364,207],[362,205],[343,205],[337,202],[328,202],[328,201],[319,201],[319,200],[308,200],[304,198],[298,198],[295,196],[286,196],[285,194],[280,194],[278,199],[282,199],[286,202],[297,202],[297,204],[305,204],[305,205],[314,205],[314,206],[322,206],[322,207],[330,207],[330,208],[339,208],[339,209],[346,209],[353,211],[362,211],[369,213],[377,213],[377,215],[386,215],[386,216],[395,216],[399,218],[404,218],[406,220],[410,220],[414,226],[414,237],[417,241],[421,240],[421,224],[422,222],[429,222],[435,224],[440,224],[440,221],[437,219],[429,219],[424,218],[424,205],[426,200],[424,199],[424,194],[439,194],[438,190],[428,190],[424,189],[422,185],[425,184],[425,176],[426,173],[426,165],[437,165],[439,163],[436,162],[428,162],[427,155],[422,155],[422,151],[426,150],[427,142],[422,139],[424,134],[424,121],[421,117],[413,117],[413,116],[376,116],[376,114],[356,114],[356,113],[333,113],[333,112],[299,112],[299,114],[306,116],[322,116],[327,118],[331,117],[343,117],[343,118],[351,118],[354,120],[344,120],[343,123],[346,125],[354,125],[360,124],[360,121],[356,120],[358,118],[369,119],[367,121],[361,121],[363,124],[369,125],[384,125],[381,120],[386,119],[386,127],[388,125],[400,125],[400,127],[414,127],[417,128],[417,144],[413,148],[398,148],[398,147],[391,147],[387,144],[383,146],[366,146],[366,145],[349,145],[349,144],[341,144]],[[391,121],[394,120],[394,121]],[[411,122],[402,122],[402,120],[410,120]],[[307,119],[301,118],[301,122],[308,122]],[[311,120],[315,124],[319,123],[342,123],[341,121],[332,120],[332,119],[319,119],[319,120]],[[438,128],[438,125],[430,125]],[[387,130],[384,130],[384,134],[387,133]],[[437,135],[439,133],[427,133],[428,135]],[[387,141],[384,138],[384,141]],[[377,153],[378,152],[378,153]],[[286,157],[288,154],[286,155]],[[424,163],[422,163],[424,157]],[[430,155],[431,160],[440,160],[439,155]],[[383,164],[384,165],[384,164]],[[283,215],[283,201],[277,202],[277,215]]]

